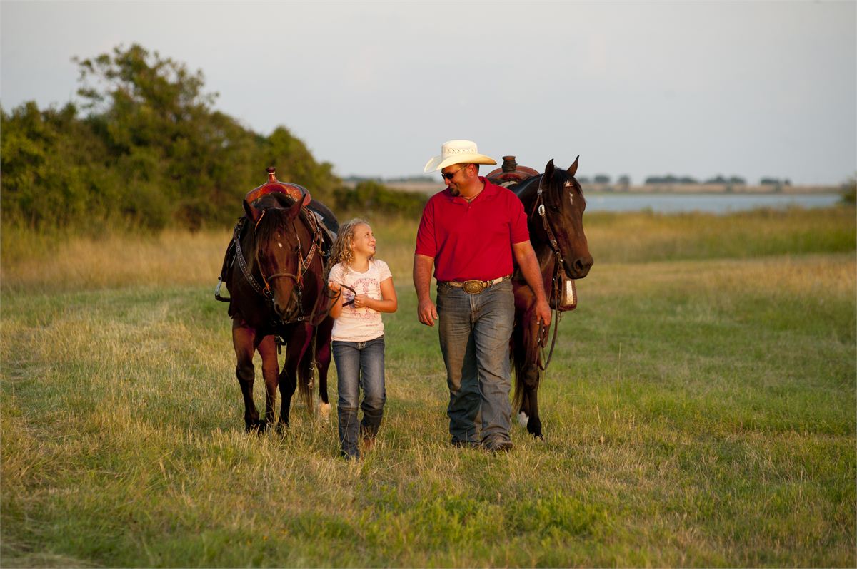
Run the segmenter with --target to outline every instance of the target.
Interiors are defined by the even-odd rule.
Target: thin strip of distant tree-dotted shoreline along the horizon
[[[343,181],[346,187],[355,187],[355,181]],[[385,186],[404,192],[437,193],[444,188],[440,181],[381,181]],[[782,193],[782,194],[822,194],[842,193],[842,186],[786,186],[746,184],[583,184],[584,194],[589,193]]]

